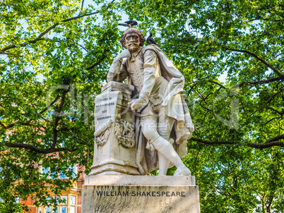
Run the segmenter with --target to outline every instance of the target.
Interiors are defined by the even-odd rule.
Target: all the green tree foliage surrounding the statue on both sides
[[[39,165],[70,177],[69,165],[90,168],[90,95],[121,48],[123,12],[144,35],[154,32],[186,78],[196,130],[184,162],[200,187],[201,211],[283,212],[283,2],[83,4],[0,1],[1,199],[35,193],[45,203],[47,181],[55,193],[71,184],[40,175]]]

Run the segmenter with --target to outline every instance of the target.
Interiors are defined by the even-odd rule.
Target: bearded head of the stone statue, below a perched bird
[[[139,46],[143,46],[145,38],[140,30],[137,28],[128,28],[122,34],[122,47],[128,49],[131,52],[135,52]]]

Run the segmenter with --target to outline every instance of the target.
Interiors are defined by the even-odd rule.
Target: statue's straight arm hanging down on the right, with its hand
[[[131,109],[139,109],[145,102],[148,101],[149,95],[155,85],[155,66],[157,64],[157,54],[152,49],[147,49],[144,52],[144,65],[143,65],[143,87],[140,92],[139,98],[131,102]]]

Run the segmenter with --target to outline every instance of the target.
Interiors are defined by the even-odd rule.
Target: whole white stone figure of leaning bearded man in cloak
[[[129,105],[136,111],[136,163],[142,174],[159,169],[165,176],[169,166],[177,166],[175,176],[189,176],[181,157],[187,154],[187,140],[194,125],[182,91],[184,76],[155,45],[143,47],[145,38],[137,28],[123,34],[122,46],[107,81],[134,85],[136,94]],[[123,59],[126,59],[123,61]]]

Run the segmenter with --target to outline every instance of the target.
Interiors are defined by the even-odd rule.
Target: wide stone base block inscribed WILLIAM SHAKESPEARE
[[[87,176],[82,212],[200,213],[194,176]]]

